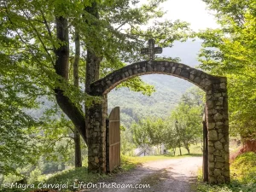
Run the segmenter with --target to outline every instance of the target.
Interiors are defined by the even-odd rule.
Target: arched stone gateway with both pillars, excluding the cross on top
[[[91,96],[101,96],[102,102],[94,104],[86,111],[89,170],[92,172],[106,172],[105,132],[108,92],[126,79],[153,73],[167,74],[188,80],[206,92],[208,181],[209,183],[230,182],[227,79],[212,76],[172,61],[133,63],[90,84],[89,94]]]

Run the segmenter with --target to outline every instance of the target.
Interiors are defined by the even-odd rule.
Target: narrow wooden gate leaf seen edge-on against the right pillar
[[[203,181],[208,182],[208,129],[207,129],[207,108],[203,115]]]

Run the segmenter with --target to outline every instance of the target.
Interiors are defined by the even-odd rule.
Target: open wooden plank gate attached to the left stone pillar
[[[119,107],[113,108],[106,122],[107,125],[107,172],[120,166],[120,113]]]

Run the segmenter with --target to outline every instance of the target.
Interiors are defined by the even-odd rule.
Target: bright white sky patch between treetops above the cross
[[[187,21],[195,31],[218,27],[214,16],[202,0],[167,0],[160,7],[167,11],[165,19]]]

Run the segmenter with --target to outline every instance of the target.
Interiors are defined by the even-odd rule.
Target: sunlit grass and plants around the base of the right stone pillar
[[[241,154],[230,165],[231,182],[223,185],[202,183],[199,175],[197,191],[200,192],[255,192],[256,191],[256,154]]]

